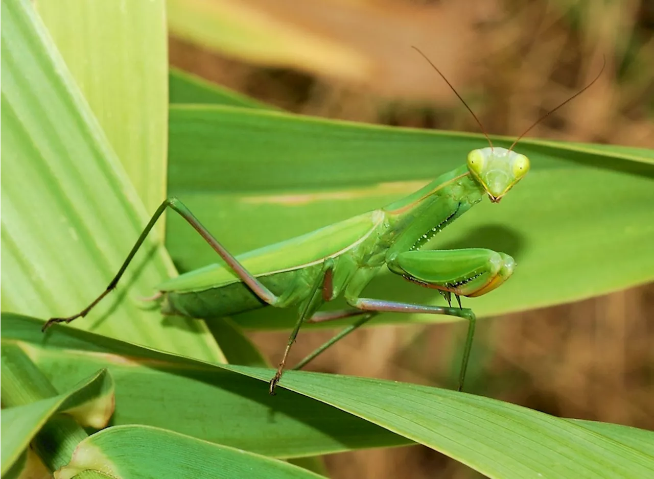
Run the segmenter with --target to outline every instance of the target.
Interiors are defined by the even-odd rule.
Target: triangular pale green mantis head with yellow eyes
[[[529,159],[497,146],[479,148],[468,154],[468,171],[486,190],[490,201],[498,203],[529,171]]]

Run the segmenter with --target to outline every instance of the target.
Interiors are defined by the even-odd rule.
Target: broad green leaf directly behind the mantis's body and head
[[[170,122],[169,191],[236,254],[386,205],[485,146],[483,137],[467,133],[233,107],[175,106]],[[502,203],[483,201],[428,245],[486,247],[515,257],[513,278],[465,299],[465,306],[483,316],[502,314],[654,279],[651,150],[535,139],[521,140],[517,150],[531,159],[528,176]],[[216,262],[213,250],[180,218],[170,217],[166,243],[184,271]],[[375,279],[366,295],[443,304],[433,289],[390,273]],[[384,314],[375,321],[405,322],[406,316]],[[294,314],[268,308],[235,320],[245,327],[289,327]]]

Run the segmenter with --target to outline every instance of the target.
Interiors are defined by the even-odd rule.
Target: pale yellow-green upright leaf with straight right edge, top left
[[[166,178],[165,1],[35,5],[146,209],[154,211]]]

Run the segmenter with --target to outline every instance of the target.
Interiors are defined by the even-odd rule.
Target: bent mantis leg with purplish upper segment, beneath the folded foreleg
[[[475,322],[477,320],[471,309],[414,305],[412,303],[398,303],[396,301],[370,298],[358,298],[351,304],[355,308],[363,311],[446,314],[447,316],[457,316],[458,318],[467,320],[468,333],[466,335],[466,345],[464,346],[463,359],[461,361],[461,369],[458,376],[458,390],[461,391],[463,389],[463,382],[466,378],[466,369],[468,369],[468,359],[470,359],[470,350],[472,350],[472,339],[475,335]]]

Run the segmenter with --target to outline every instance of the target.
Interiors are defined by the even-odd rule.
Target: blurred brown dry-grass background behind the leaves
[[[447,85],[411,50],[415,45],[455,85],[489,133],[515,136],[589,82],[605,56],[606,70],[593,88],[530,135],[654,148],[651,1],[239,3],[349,52],[357,66],[332,71],[319,58],[306,65],[254,64],[174,37],[171,63],[292,112],[479,131]],[[472,301],[468,305],[474,307]],[[557,416],[654,429],[653,313],[649,285],[481,320],[466,389]],[[309,369],[452,387],[464,330],[455,323],[358,331]],[[292,359],[330,335],[300,333]],[[287,335],[253,338],[275,363]],[[422,446],[336,454],[326,457],[326,465],[335,479],[479,476]]]

